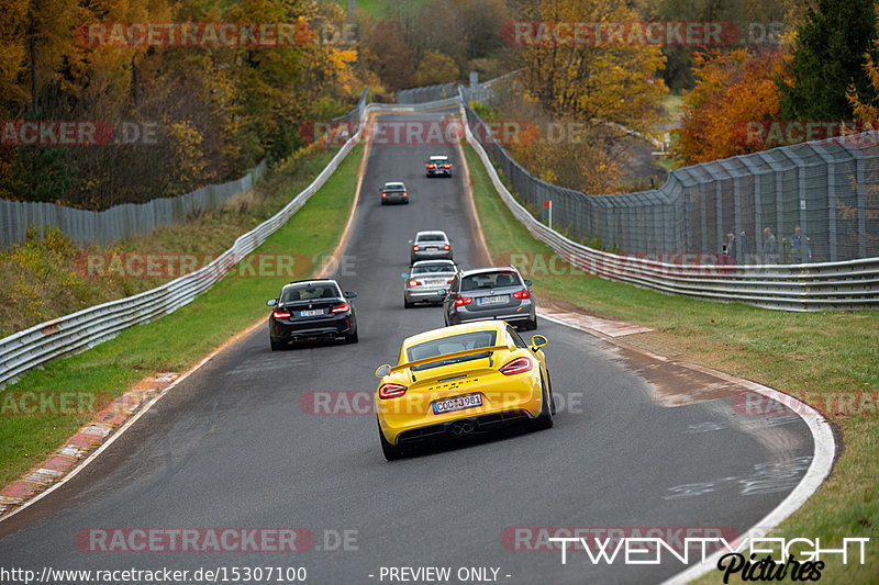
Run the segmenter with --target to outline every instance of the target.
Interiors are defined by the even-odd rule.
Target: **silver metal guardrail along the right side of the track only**
[[[461,116],[466,120],[464,106]],[[542,224],[510,193],[469,125],[476,150],[494,189],[527,230],[585,272],[666,293],[742,302],[786,311],[879,307],[879,258],[844,262],[766,266],[670,265],[596,250]]]

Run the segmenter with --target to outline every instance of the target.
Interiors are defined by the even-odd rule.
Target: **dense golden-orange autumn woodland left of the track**
[[[271,47],[92,45],[75,35],[90,22],[287,22],[305,36]],[[8,0],[0,9],[3,119],[22,119],[36,104],[41,120],[118,130],[123,122],[151,124],[159,132],[157,144],[66,153],[0,146],[0,172],[13,179],[0,196],[51,193],[101,209],[180,194],[289,155],[302,145],[299,128],[310,116],[349,108],[359,93],[356,47],[305,34],[344,22],[336,3],[315,0]],[[46,172],[33,173],[41,165]],[[60,165],[73,184],[57,180],[65,177]]]

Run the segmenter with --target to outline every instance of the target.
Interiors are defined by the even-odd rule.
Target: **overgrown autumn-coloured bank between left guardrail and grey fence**
[[[330,161],[336,149],[293,159],[257,188],[222,206],[112,246],[74,245],[59,232],[0,250],[0,338],[82,308],[131,296],[167,282],[162,278],[93,278],[84,259],[110,254],[215,257],[237,236],[278,212]],[[48,302],[47,300],[52,300]]]

